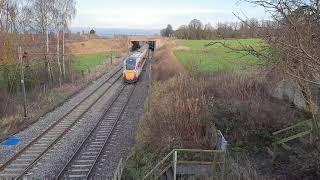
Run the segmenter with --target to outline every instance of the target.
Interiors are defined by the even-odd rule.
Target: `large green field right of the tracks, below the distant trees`
[[[200,72],[243,72],[259,64],[259,60],[255,56],[244,56],[237,51],[223,47],[221,44],[205,47],[210,42],[219,41],[178,40],[176,41],[178,47],[174,50],[174,54],[189,70]],[[233,48],[250,45],[259,49],[265,45],[261,39],[221,40],[220,42],[225,42]]]

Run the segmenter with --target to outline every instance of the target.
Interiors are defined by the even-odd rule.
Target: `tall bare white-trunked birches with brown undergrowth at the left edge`
[[[0,96],[42,87],[47,92],[67,79],[65,32],[75,5],[76,0],[0,0]],[[14,102],[5,101],[0,115]]]

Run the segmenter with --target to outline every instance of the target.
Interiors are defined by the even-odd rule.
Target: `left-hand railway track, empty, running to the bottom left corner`
[[[21,178],[47,153],[91,107],[121,78],[117,69],[80,102],[58,118],[11,159],[0,166],[0,179]]]

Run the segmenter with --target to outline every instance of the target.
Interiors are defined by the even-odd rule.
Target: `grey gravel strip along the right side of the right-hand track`
[[[111,141],[105,148],[103,158],[98,162],[98,167],[94,171],[95,177],[108,179],[113,177],[121,158],[125,161],[135,144],[136,131],[139,121],[144,113],[144,106],[149,92],[149,63],[136,89],[129,101],[129,104],[119,120]]]

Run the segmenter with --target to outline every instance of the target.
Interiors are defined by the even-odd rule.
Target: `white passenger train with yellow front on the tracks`
[[[123,80],[125,83],[135,83],[139,80],[146,63],[149,45],[142,46],[130,54],[123,62]]]

